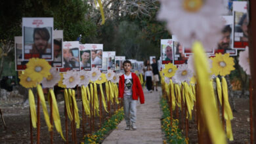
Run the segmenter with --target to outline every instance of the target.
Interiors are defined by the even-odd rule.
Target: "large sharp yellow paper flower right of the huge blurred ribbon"
[[[213,60],[213,67],[211,71],[214,75],[229,75],[232,70],[234,70],[234,58],[229,57],[229,54],[215,54]]]

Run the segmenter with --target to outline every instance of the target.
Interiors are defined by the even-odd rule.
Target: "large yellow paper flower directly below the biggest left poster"
[[[38,82],[41,82],[43,77],[48,77],[48,75],[51,75],[51,65],[49,65],[49,63],[44,59],[31,58],[26,65],[26,73],[28,73],[32,79],[35,79]]]

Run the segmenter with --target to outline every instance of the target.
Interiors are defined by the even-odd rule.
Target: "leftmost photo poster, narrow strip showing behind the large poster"
[[[26,63],[28,61],[22,60],[22,36],[14,37],[14,46],[15,46],[15,70],[22,71],[26,69]]]

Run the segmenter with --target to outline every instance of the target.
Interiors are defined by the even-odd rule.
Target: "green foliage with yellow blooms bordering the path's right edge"
[[[160,101],[161,109],[163,111],[161,128],[165,133],[166,141],[163,143],[188,143],[188,139],[185,139],[179,129],[179,120],[173,119],[173,127],[171,127],[170,111],[168,108],[167,101],[161,98]]]

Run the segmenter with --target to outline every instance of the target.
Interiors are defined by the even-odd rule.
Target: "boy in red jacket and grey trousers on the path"
[[[137,112],[137,100],[140,98],[140,103],[144,103],[144,94],[139,81],[139,78],[135,73],[131,73],[131,62],[125,60],[123,62],[123,69],[125,74],[120,76],[119,79],[119,96],[123,99],[123,111],[125,113],[125,130],[136,130],[136,112]]]

